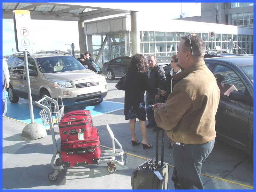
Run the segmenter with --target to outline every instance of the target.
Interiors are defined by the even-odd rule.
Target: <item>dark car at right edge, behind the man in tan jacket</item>
[[[220,88],[217,138],[250,154],[253,159],[253,57],[204,59]]]

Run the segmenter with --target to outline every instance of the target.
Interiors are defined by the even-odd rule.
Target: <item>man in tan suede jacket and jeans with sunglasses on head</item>
[[[205,43],[195,33],[182,36],[177,57],[182,71],[166,104],[153,110],[157,126],[173,144],[175,189],[204,189],[200,178],[202,162],[214,146],[215,114],[220,89],[204,63]]]

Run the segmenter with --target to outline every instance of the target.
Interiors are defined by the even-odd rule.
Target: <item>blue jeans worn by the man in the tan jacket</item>
[[[202,163],[211,153],[213,146],[214,140],[198,145],[173,145],[172,181],[175,189],[204,189],[200,178]]]

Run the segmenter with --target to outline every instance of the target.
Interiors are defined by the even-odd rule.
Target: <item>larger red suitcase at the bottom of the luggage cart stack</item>
[[[100,136],[93,126],[90,138],[61,141],[61,159],[65,167],[100,163]]]

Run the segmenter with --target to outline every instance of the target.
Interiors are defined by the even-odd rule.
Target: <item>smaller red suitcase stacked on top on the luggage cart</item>
[[[84,138],[89,138],[92,132],[92,117],[89,110],[71,111],[65,114],[59,124],[60,139],[68,141],[78,139],[78,130],[84,133]]]

